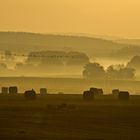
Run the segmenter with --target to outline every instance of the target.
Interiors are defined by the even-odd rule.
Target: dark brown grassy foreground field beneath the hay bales
[[[129,101],[103,96],[85,102],[81,95],[0,95],[2,140],[138,140],[140,97]]]

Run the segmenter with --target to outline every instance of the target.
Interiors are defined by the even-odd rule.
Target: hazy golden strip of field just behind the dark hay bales
[[[49,93],[82,94],[90,87],[103,88],[104,94],[112,89],[128,90],[130,94],[140,94],[140,81],[135,80],[88,80],[84,78],[52,78],[52,77],[0,77],[0,87],[17,86],[20,93],[25,90],[47,88]]]

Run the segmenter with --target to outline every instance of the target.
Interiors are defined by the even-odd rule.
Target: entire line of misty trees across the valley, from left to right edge
[[[90,63],[89,57],[81,52],[65,51],[35,51],[26,55],[25,62],[17,63],[14,71],[38,71],[38,70],[57,70],[67,66],[80,66],[83,68],[83,77],[88,79],[134,79],[135,73],[140,70],[140,56],[134,56],[125,65],[110,65],[105,69],[99,63]],[[5,51],[5,60],[14,60],[14,55],[10,51]],[[0,70],[3,73],[8,70],[5,63],[0,63]],[[60,69],[61,71],[62,69]],[[39,71],[39,72],[40,72]]]

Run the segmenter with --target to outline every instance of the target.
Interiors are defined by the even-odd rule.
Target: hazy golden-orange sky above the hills
[[[0,0],[0,31],[140,38],[140,0]]]

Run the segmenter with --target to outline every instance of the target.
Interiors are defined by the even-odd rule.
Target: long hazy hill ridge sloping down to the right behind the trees
[[[23,53],[35,50],[65,50],[85,52],[95,57],[108,56],[110,52],[124,47],[128,45],[84,36],[0,32],[0,51]]]

